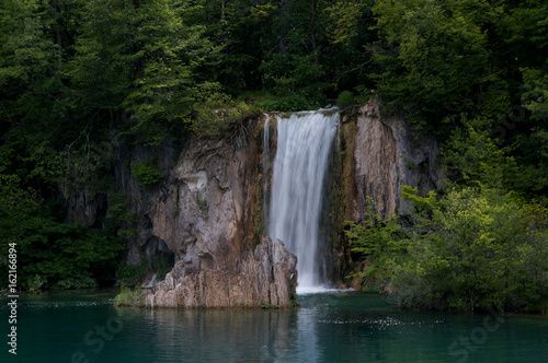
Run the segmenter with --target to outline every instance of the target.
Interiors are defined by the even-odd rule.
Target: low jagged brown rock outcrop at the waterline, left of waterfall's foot
[[[231,270],[176,262],[145,301],[151,307],[289,307],[296,266],[297,257],[281,241],[264,237],[254,253],[237,258]]]

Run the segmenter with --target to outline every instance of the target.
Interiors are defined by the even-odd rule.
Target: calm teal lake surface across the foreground
[[[118,308],[112,292],[19,298],[1,362],[548,362],[548,317],[404,311],[356,292],[298,311]]]

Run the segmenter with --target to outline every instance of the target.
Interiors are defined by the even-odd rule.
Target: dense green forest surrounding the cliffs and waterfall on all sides
[[[447,180],[353,224],[361,274],[410,306],[546,309],[547,2],[3,0],[0,24],[0,255],[16,243],[24,289],[115,280],[132,218],[111,180],[119,144],[375,97],[441,141]],[[87,184],[113,207],[66,223]]]

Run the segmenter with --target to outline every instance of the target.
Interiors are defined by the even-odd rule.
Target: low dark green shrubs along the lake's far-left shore
[[[16,241],[18,278],[27,290],[84,289],[114,282],[124,243],[81,224],[59,223],[52,218],[28,216],[10,229]],[[8,239],[10,241],[10,239]],[[0,268],[8,270],[7,264]],[[8,277],[8,273],[5,273]]]

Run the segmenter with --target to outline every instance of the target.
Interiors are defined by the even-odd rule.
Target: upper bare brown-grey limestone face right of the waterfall
[[[352,116],[355,125],[343,125],[353,157],[350,166],[353,185],[346,187],[351,189],[345,202],[349,219],[363,219],[367,197],[374,199],[378,212],[386,218],[407,206],[400,196],[401,186],[416,187],[422,194],[438,187],[438,144],[434,138],[416,137],[403,119],[380,115],[379,104],[374,99]]]

